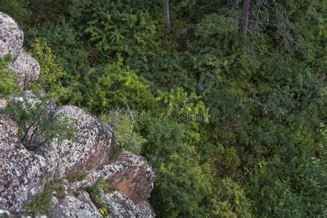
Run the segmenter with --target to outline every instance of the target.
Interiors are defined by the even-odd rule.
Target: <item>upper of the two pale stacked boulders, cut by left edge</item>
[[[0,57],[12,55],[12,62],[15,61],[23,46],[23,31],[8,14],[0,12]]]

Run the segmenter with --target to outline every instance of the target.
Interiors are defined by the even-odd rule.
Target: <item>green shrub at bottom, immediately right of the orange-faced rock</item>
[[[150,202],[158,217],[206,215],[201,202],[211,191],[212,177],[206,174],[206,166],[199,165],[192,138],[188,137],[196,134],[171,121],[154,122],[148,131],[143,153],[157,173]]]

